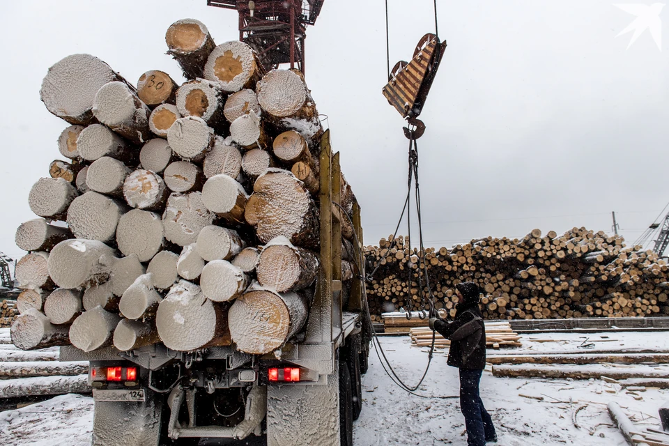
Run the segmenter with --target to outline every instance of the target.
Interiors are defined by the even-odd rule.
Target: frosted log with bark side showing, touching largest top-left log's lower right
[[[93,114],[100,123],[134,144],[153,136],[148,128],[151,109],[141,102],[134,88],[123,82],[109,82],[95,94]]]

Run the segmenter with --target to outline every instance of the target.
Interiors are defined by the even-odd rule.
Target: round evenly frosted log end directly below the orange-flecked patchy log
[[[160,215],[133,209],[118,220],[116,243],[125,256],[137,255],[148,262],[164,245],[164,227]]]

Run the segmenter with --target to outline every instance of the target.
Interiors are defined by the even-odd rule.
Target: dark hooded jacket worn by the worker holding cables
[[[482,370],[486,367],[486,327],[479,309],[480,290],[473,282],[457,284],[465,302],[456,306],[452,323],[438,319],[434,329],[450,339],[447,364],[452,367]]]

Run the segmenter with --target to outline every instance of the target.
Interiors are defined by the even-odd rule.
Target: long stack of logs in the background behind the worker
[[[426,308],[421,295],[428,291],[427,275],[436,307],[451,316],[460,282],[484,290],[482,309],[489,319],[669,315],[666,262],[623,242],[585,228],[560,236],[535,229],[521,240],[488,237],[420,252],[408,239],[390,236],[366,247],[367,270],[379,265],[367,285],[370,312],[381,321],[384,312]]]

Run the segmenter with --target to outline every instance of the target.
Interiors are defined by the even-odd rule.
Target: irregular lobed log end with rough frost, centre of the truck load
[[[162,215],[165,238],[179,246],[195,243],[201,229],[212,224],[214,217],[204,206],[200,192],[171,194]]]

